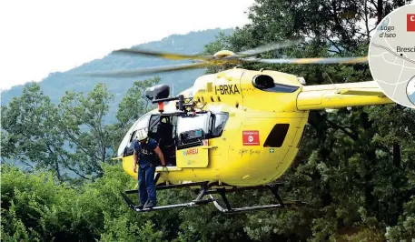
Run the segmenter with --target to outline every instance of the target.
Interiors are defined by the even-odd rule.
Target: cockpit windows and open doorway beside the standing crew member
[[[118,149],[118,156],[133,155],[133,141],[139,129],[145,129],[163,152],[167,166],[176,166],[176,151],[203,146],[206,139],[219,137],[228,120],[224,112],[194,112],[191,114],[146,114],[130,128]]]

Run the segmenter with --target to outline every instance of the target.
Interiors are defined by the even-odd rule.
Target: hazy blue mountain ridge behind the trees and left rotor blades
[[[149,50],[194,54],[203,52],[204,45],[215,40],[216,35],[222,31],[225,35],[231,35],[233,29],[209,29],[197,32],[190,32],[187,35],[170,35],[160,41],[153,41],[142,45],[135,45]],[[67,72],[51,73],[45,77],[39,84],[46,96],[50,96],[53,103],[58,103],[65,91],[75,91],[87,93],[94,86],[103,82],[108,85],[111,93],[114,94],[114,102],[110,106],[110,120],[114,118],[116,108],[125,95],[127,89],[133,85],[134,81],[143,80],[151,76],[139,76],[135,78],[103,78],[103,77],[84,77],[73,76],[73,74],[115,70],[115,69],[132,69],[147,66],[164,66],[186,63],[189,61],[171,61],[162,58],[144,57],[144,56],[127,56],[127,55],[105,55],[102,59],[95,59],[82,66],[75,67]],[[159,74],[163,84],[174,85],[174,94],[177,94],[189,86],[193,85],[195,78],[204,74],[204,69],[178,71],[175,73]],[[14,86],[9,90],[1,93],[1,105],[6,106],[15,96],[21,96],[24,86]],[[110,121],[108,120],[108,121]]]

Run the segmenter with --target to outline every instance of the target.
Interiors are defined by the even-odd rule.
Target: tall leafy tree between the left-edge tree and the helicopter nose
[[[104,118],[114,95],[107,86],[98,84],[84,96],[83,93],[66,92],[59,104],[58,124],[64,133],[71,153],[72,166],[86,176],[102,176],[102,164],[108,161],[113,147]]]

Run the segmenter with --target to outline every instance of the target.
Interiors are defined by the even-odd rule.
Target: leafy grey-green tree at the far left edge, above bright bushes
[[[56,107],[36,83],[25,85],[23,95],[2,106],[2,157],[32,168],[51,170],[62,180],[69,166]]]

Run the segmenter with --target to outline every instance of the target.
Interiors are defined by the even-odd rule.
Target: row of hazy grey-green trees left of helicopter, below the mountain
[[[2,106],[2,158],[50,170],[61,181],[102,176],[101,166],[110,162],[129,126],[152,107],[144,90],[159,82],[159,77],[135,82],[120,103],[119,121],[110,125],[105,116],[114,95],[106,85],[86,96],[66,92],[55,106],[38,84],[28,84],[22,96]]]

